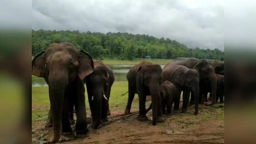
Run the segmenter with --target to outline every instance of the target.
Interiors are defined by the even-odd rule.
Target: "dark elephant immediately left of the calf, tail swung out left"
[[[140,121],[146,121],[146,96],[152,96],[152,125],[157,122],[163,122],[164,118],[161,114],[161,99],[160,99],[160,79],[161,79],[161,66],[142,61],[134,65],[127,73],[128,80],[128,102],[125,108],[125,114],[130,114],[131,105],[133,102],[134,94],[139,96],[139,116]]]

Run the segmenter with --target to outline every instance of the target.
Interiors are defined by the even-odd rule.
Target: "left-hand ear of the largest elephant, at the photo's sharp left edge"
[[[46,58],[45,52],[36,55],[32,61],[32,74],[38,77],[45,77],[46,72]]]

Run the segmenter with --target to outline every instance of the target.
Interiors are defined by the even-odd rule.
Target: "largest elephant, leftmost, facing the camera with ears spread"
[[[71,131],[70,106],[76,108],[76,133],[87,132],[85,86],[83,79],[94,70],[90,54],[78,51],[68,42],[53,43],[32,61],[32,74],[48,84],[50,111],[48,123],[53,126],[50,143],[56,143],[61,132]],[[73,119],[73,117],[72,117]]]

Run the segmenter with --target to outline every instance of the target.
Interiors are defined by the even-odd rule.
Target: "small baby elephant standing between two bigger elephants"
[[[172,103],[176,94],[176,88],[170,81],[164,81],[160,85],[162,114],[171,115]],[[151,108],[152,104],[147,108],[146,112],[150,111]]]

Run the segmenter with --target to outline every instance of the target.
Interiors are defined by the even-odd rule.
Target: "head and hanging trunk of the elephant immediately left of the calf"
[[[147,87],[152,97],[152,124],[156,125],[158,112],[161,112],[160,80],[162,69],[158,64],[140,67],[138,79],[142,87]]]

